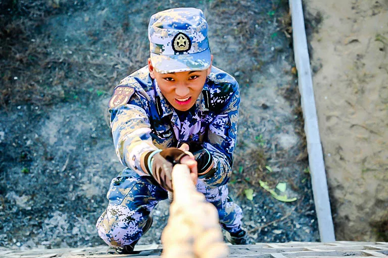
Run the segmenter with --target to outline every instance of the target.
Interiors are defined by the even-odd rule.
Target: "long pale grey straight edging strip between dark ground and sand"
[[[325,165],[323,162],[322,145],[319,136],[302,1],[289,0],[289,8],[293,21],[294,55],[298,70],[298,83],[299,91],[301,93],[303,116],[305,118],[307,151],[309,153],[311,181],[318,218],[319,235],[322,242],[333,242],[335,241],[334,227],[331,218]]]

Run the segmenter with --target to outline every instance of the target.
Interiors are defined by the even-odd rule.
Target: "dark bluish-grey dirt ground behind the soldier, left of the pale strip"
[[[94,224],[108,204],[110,180],[123,169],[104,119],[110,90],[146,64],[150,16],[192,2],[0,5],[0,245],[103,244]],[[206,0],[193,7],[207,17],[214,65],[240,85],[229,189],[250,237],[319,240],[287,1]],[[275,199],[260,180],[297,200]],[[275,189],[279,182],[284,192]],[[160,243],[168,202],[153,217],[140,244]]]

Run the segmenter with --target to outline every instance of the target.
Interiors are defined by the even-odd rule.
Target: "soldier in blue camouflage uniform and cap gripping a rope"
[[[227,238],[246,244],[242,212],[228,197],[236,142],[238,83],[212,67],[201,10],[153,15],[148,66],[124,78],[109,102],[113,141],[126,167],[111,182],[109,205],[96,227],[118,252],[130,253],[172,191],[174,164],[187,164],[206,200],[218,210]],[[198,177],[198,180],[197,180]]]

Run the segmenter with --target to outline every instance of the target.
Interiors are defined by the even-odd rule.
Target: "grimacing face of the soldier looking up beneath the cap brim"
[[[203,71],[160,74],[156,72],[150,59],[148,67],[151,78],[158,82],[163,96],[179,111],[186,111],[196,103],[211,71],[210,66]]]

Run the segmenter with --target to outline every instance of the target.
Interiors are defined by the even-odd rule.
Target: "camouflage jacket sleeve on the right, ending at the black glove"
[[[237,138],[239,103],[238,84],[235,83],[231,97],[209,125],[208,139],[203,145],[212,154],[214,160],[213,176],[203,179],[208,185],[221,186],[229,181]]]

